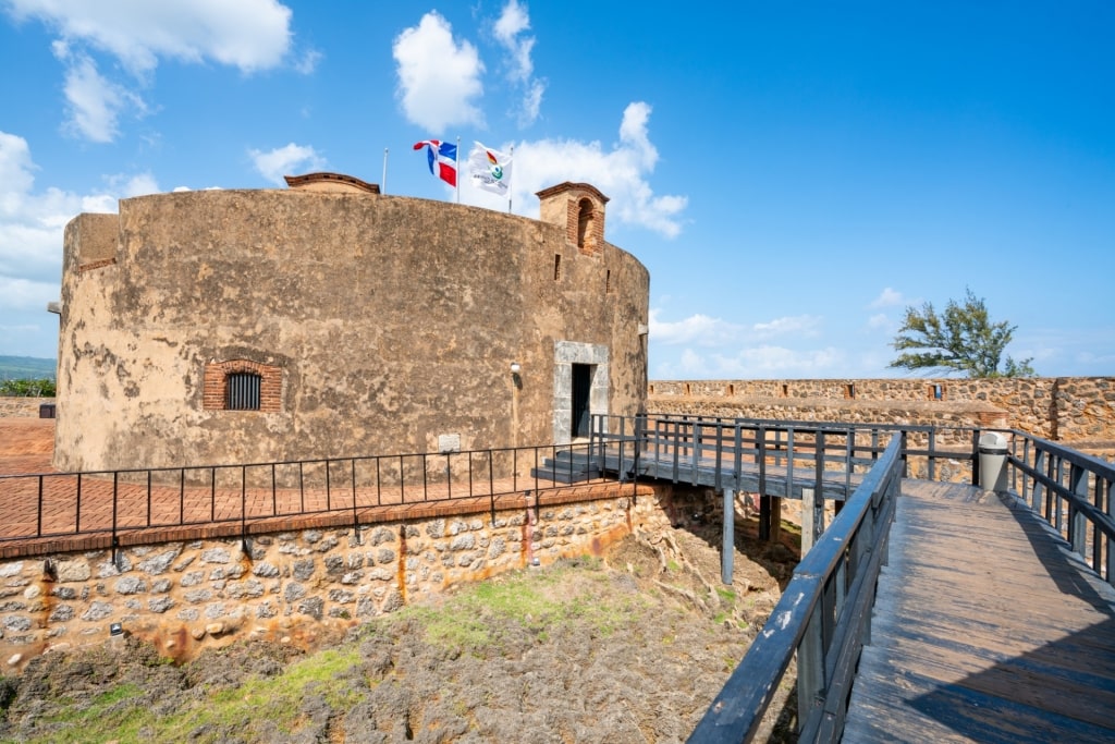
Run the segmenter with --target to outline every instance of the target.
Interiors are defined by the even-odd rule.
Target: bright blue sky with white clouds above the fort
[[[0,0],[0,355],[56,355],[83,211],[385,149],[387,193],[452,201],[411,145],[459,137],[514,147],[518,214],[611,197],[652,379],[905,376],[904,308],[968,288],[1038,374],[1115,375],[1115,3],[679,8]]]

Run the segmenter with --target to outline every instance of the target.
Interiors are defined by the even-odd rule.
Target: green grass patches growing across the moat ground
[[[500,653],[506,640],[502,634],[517,634],[518,629],[544,640],[562,627],[581,624],[607,636],[630,627],[636,611],[648,603],[640,595],[618,595],[609,602],[594,600],[592,590],[599,596],[601,587],[609,589],[609,581],[604,574],[574,572],[561,564],[504,574],[465,587],[437,605],[413,605],[378,618],[367,624],[360,636],[390,632],[396,624],[404,624],[424,629],[432,645],[481,657]],[[230,688],[197,688],[192,699],[186,698],[164,716],[152,711],[151,700],[138,686],[120,684],[91,700],[76,697],[62,713],[42,719],[43,734],[29,744],[205,744],[226,737],[229,731],[248,741],[263,741],[266,729],[262,722],[273,723],[281,736],[295,735],[308,695],[321,695],[334,711],[350,709],[363,699],[365,692],[353,685],[351,671],[363,660],[360,645],[357,641],[318,651],[289,664],[273,677],[249,678]]]

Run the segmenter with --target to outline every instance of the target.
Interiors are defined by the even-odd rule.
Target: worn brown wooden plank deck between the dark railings
[[[1115,742],[1115,589],[1037,515],[904,481],[844,742]]]

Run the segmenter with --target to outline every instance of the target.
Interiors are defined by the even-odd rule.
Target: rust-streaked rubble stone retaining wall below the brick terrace
[[[488,513],[54,553],[0,561],[0,674],[51,649],[101,642],[112,624],[185,660],[268,638],[310,645],[330,629],[453,584],[600,552],[668,525],[670,491]]]

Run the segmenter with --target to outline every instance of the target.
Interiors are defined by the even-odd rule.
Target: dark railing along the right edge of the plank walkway
[[[1098,576],[1115,584],[1115,465],[1018,429],[1007,432],[1007,483]]]

